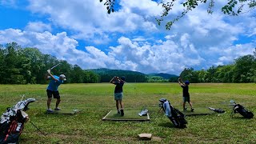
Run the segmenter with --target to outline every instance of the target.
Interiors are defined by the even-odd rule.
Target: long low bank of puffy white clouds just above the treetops
[[[148,42],[138,44],[130,38],[121,37],[118,39],[118,46],[110,46],[109,53],[106,54],[94,46],[86,46],[85,51],[77,50],[78,42],[69,38],[65,32],[54,35],[50,32],[0,30],[0,43],[18,42],[22,46],[37,47],[43,54],[53,54],[71,64],[78,64],[83,69],[107,67],[144,73],[157,71],[179,74],[185,67],[225,64],[253,52],[253,44],[230,46],[226,49],[212,48],[209,49],[209,54],[218,54],[213,59],[197,51],[188,34],[182,35],[182,38],[185,40],[174,42],[166,39],[156,45]]]

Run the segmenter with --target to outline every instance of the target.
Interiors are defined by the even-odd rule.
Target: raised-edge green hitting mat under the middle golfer
[[[102,121],[150,121],[150,115],[139,116],[140,110],[124,110],[124,116],[117,113],[117,110],[110,110]]]

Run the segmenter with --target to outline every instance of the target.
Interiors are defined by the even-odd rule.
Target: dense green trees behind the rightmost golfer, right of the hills
[[[211,66],[208,70],[186,68],[180,77],[190,82],[256,82],[256,49],[234,60],[234,64]]]

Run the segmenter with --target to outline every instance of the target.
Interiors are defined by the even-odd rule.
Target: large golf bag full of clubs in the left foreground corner
[[[28,121],[28,105],[34,102],[34,98],[27,98],[18,102],[13,107],[8,107],[2,114],[0,122],[0,144],[18,143],[18,138],[22,134],[25,122]]]

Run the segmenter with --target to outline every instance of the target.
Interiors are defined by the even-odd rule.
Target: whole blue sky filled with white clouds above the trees
[[[146,74],[226,65],[256,47],[256,10],[230,17],[220,11],[225,2],[216,1],[214,14],[198,6],[165,30],[155,20],[162,13],[156,1],[117,2],[118,9],[107,14],[98,0],[0,0],[0,44],[37,47],[82,69]],[[165,20],[182,9],[175,5]]]

